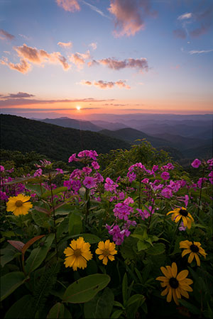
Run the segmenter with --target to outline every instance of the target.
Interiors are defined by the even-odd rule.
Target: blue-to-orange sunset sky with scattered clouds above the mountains
[[[213,113],[212,0],[0,0],[1,113]]]

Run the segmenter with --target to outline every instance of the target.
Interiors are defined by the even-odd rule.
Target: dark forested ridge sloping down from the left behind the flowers
[[[67,162],[72,153],[81,150],[96,150],[100,154],[118,148],[130,148],[130,144],[124,140],[89,130],[62,128],[21,116],[1,114],[0,119],[1,148],[4,150],[35,151],[50,159]]]

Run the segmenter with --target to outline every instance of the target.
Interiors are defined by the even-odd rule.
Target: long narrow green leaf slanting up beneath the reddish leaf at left
[[[48,254],[48,250],[50,249],[54,237],[55,234],[50,234],[45,240],[45,245],[32,250],[30,256],[26,260],[26,272],[28,272],[28,274],[30,272],[33,272],[33,270],[38,268],[40,264],[43,262],[46,255]]]

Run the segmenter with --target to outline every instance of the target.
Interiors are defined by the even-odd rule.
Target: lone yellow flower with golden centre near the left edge
[[[11,211],[16,216],[28,214],[28,210],[33,207],[33,204],[29,201],[30,198],[31,196],[22,194],[9,197],[9,201],[6,203],[6,211]]]

